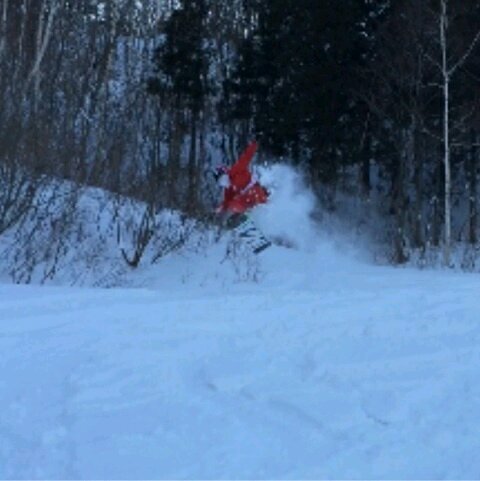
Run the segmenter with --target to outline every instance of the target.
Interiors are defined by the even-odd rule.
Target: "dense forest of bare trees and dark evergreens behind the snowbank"
[[[257,138],[392,261],[475,257],[479,36],[477,0],[0,0],[0,234],[52,177],[202,217]]]

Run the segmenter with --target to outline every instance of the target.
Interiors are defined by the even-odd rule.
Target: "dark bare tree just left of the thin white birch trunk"
[[[431,43],[427,22],[420,2],[395,4],[377,33],[381,47],[363,72],[364,88],[356,92],[369,110],[362,142],[375,148],[376,161],[391,180],[394,259],[400,263],[408,260],[409,247],[424,245],[427,231],[424,129],[427,105],[436,95],[425,59]]]

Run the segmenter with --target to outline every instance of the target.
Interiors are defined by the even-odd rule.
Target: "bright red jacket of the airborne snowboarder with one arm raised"
[[[230,185],[224,190],[222,211],[243,213],[258,204],[267,202],[268,193],[258,182],[252,181],[249,166],[258,144],[251,142],[235,164],[228,169]]]

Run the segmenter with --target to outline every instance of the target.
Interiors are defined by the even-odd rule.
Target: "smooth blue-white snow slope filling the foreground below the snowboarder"
[[[0,285],[0,477],[478,478],[478,278],[287,261],[217,294]]]

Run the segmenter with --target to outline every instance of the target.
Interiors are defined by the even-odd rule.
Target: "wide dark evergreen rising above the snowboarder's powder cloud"
[[[316,178],[333,180],[358,138],[352,91],[373,7],[358,0],[270,0],[256,8],[256,30],[245,38],[230,79],[232,117],[252,116],[271,153],[306,156]]]

